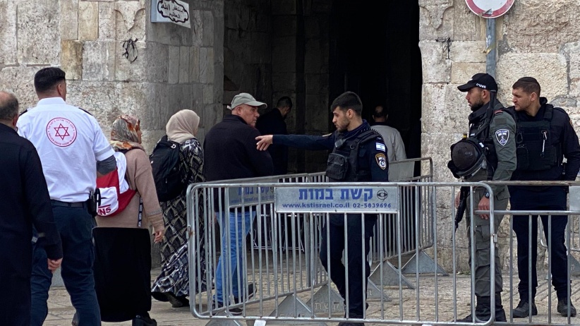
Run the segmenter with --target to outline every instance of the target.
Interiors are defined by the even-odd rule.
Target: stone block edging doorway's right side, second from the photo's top
[[[449,83],[451,79],[451,60],[447,59],[444,43],[420,41],[423,58],[423,83]]]

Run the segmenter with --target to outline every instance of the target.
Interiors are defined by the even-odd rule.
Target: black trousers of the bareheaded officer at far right
[[[512,210],[566,210],[567,194],[561,186],[551,186],[545,191],[529,191],[526,188],[509,188],[511,194],[510,202]],[[540,215],[542,220],[544,236],[546,241],[550,239],[550,229],[548,229],[548,216]],[[528,232],[531,222],[531,234]],[[558,298],[567,298],[568,282],[568,256],[564,245],[564,234],[566,233],[566,215],[552,215],[551,229],[551,259],[552,259],[552,285]],[[538,260],[538,216],[519,215],[514,216],[514,232],[518,240],[518,291],[521,300],[530,298],[530,279],[528,272],[531,263],[531,300],[536,296],[538,287],[538,274],[536,272],[536,260]],[[531,256],[528,250],[531,247]],[[549,253],[549,252],[548,252]]]

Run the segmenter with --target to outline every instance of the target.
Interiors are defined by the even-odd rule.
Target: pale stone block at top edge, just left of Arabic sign
[[[116,1],[115,11],[116,35],[121,39],[131,37],[145,41],[145,21],[149,20],[145,13],[145,1]]]

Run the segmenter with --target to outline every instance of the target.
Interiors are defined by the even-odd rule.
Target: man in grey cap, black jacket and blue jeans
[[[265,107],[265,103],[256,101],[248,93],[234,96],[228,106],[231,114],[224,116],[222,122],[213,126],[205,135],[203,171],[207,181],[254,178],[274,173],[270,154],[255,146],[255,138],[260,135],[255,128],[255,121],[260,116],[258,109]],[[238,207],[228,212],[224,193],[219,195],[215,188],[213,197],[214,212],[217,213],[222,234],[222,254],[217,263],[214,298],[215,308],[219,308],[246,301],[254,294],[253,284],[245,286],[244,282],[246,272],[243,270],[245,257],[242,243],[250,231],[255,210],[246,207],[242,212]],[[230,290],[232,293],[229,293]],[[231,295],[234,296],[234,302],[228,301]],[[242,310],[229,308],[229,312],[240,315]]]

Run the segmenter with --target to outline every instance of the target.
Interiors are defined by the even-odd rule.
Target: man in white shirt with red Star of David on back
[[[78,325],[101,325],[92,274],[95,219],[87,206],[97,186],[97,173],[116,168],[114,151],[95,117],[66,104],[64,71],[42,68],[35,74],[34,84],[39,101],[18,119],[18,133],[35,145],[42,162],[64,251],[61,274]],[[48,313],[52,272],[44,248],[35,246],[33,250],[30,325],[42,325]]]

